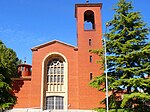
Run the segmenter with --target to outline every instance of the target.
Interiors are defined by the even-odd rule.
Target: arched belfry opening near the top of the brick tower
[[[94,21],[94,12],[87,10],[84,12],[84,30],[94,30],[95,21]]]

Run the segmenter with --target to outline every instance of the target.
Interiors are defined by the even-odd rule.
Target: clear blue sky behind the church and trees
[[[76,46],[75,4],[86,0],[0,0],[0,40],[12,48],[19,59],[32,64],[34,46],[60,40]],[[113,18],[118,0],[89,0],[102,3],[102,29]],[[150,0],[132,0],[150,26]],[[148,36],[150,37],[150,36]]]

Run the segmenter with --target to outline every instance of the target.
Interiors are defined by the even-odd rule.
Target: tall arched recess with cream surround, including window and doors
[[[44,110],[64,110],[68,104],[68,63],[64,55],[53,52],[43,63],[43,97]]]

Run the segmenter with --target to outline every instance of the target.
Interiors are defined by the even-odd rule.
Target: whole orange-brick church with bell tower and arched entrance
[[[77,46],[53,40],[31,48],[32,66],[20,64],[20,77],[13,79],[17,103],[11,111],[92,112],[103,106],[105,93],[89,86],[103,72],[99,56],[89,52],[102,47],[101,8],[75,4]]]

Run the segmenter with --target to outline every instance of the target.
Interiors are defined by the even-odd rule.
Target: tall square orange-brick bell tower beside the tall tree
[[[92,109],[99,105],[105,94],[89,86],[89,82],[102,74],[96,62],[100,57],[89,50],[102,48],[101,3],[76,4],[78,44],[78,84],[79,108]]]

